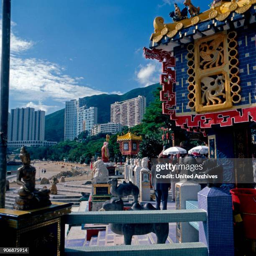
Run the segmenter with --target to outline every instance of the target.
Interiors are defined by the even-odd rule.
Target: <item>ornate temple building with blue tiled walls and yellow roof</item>
[[[190,18],[177,7],[173,23],[156,17],[150,49],[144,48],[146,58],[163,66],[163,113],[177,126],[207,136],[211,158],[251,157],[256,1],[214,1],[202,13],[187,2]],[[250,168],[243,171],[252,176]],[[225,181],[239,183],[235,172],[231,170]]]

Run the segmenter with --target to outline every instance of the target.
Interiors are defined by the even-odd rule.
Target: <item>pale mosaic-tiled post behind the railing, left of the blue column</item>
[[[201,186],[196,182],[182,181],[175,186],[176,209],[186,209],[186,201],[197,200]],[[198,231],[188,222],[178,222],[176,227],[177,241],[180,243],[198,242]]]

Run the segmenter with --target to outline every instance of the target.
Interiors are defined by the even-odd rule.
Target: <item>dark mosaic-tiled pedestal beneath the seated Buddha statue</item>
[[[29,247],[29,255],[60,256],[64,252],[64,215],[71,203],[28,210],[0,209],[0,247]]]

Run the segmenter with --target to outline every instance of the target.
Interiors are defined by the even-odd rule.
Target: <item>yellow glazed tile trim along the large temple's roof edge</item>
[[[223,21],[230,13],[245,13],[254,4],[256,4],[256,0],[238,0],[237,2],[236,0],[221,1],[219,6],[212,7],[196,16],[173,23],[164,23],[164,18],[156,17],[154,19],[155,33],[151,34],[150,40],[158,43],[164,36],[172,38],[182,28],[188,28],[206,20],[216,19]]]

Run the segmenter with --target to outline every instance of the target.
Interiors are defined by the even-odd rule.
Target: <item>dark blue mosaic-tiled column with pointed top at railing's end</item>
[[[233,256],[233,212],[231,195],[217,187],[198,192],[198,208],[207,211],[207,221],[199,223],[199,241],[209,256]]]

